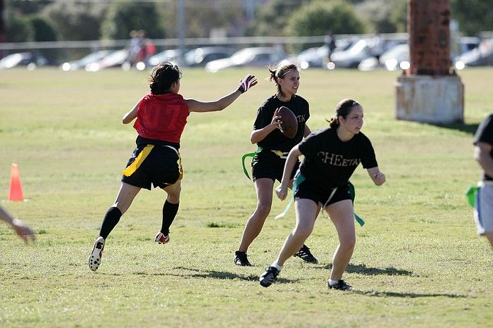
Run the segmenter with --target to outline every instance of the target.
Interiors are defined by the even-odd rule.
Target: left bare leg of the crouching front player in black
[[[297,199],[294,202],[296,209],[296,225],[293,231],[282,246],[282,249],[277,256],[277,264],[284,265],[285,261],[292,257],[294,253],[299,251],[305,240],[310,236],[315,225],[316,215],[319,211],[319,206],[310,199]]]

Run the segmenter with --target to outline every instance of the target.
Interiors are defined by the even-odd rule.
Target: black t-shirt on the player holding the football
[[[294,146],[299,144],[305,134],[305,122],[310,117],[308,101],[301,96],[294,95],[289,101],[280,101],[276,96],[271,96],[258,108],[257,118],[254,123],[254,130],[260,130],[272,122],[274,112],[277,108],[286,106],[289,108],[298,120],[298,130],[293,139],[286,137],[279,129],[270,132],[267,137],[258,142],[258,146],[263,149],[275,151],[290,151]]]

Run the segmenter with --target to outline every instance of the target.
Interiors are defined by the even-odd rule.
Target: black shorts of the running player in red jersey
[[[127,168],[135,162],[146,146],[153,148],[146,158],[141,160],[135,172],[131,172],[128,176],[124,173],[122,182],[151,190],[151,184],[154,188],[164,188],[182,178],[180,154],[171,146],[138,145],[128,160]]]

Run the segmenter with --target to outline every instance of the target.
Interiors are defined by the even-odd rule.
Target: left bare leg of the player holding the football
[[[246,252],[250,244],[262,231],[263,224],[266,222],[272,206],[273,187],[274,181],[272,179],[256,179],[257,208],[246,222],[238,251]]]

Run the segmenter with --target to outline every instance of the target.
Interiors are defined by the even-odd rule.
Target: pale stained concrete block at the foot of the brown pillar
[[[398,120],[432,124],[464,122],[464,85],[457,75],[403,75],[395,85]]]

